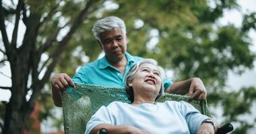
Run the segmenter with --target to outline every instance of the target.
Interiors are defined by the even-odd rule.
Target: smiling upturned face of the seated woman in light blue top
[[[129,82],[129,86],[133,87],[134,94],[139,92],[154,92],[158,95],[161,88],[162,80],[160,72],[153,64],[145,63],[139,66],[133,80]]]

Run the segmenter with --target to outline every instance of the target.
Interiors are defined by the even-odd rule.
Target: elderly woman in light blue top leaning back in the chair
[[[183,101],[155,100],[164,94],[164,71],[152,59],[137,62],[125,84],[131,104],[113,102],[90,119],[86,133],[215,133],[218,123]]]

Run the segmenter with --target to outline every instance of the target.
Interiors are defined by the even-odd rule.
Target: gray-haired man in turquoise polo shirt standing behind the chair
[[[131,56],[127,52],[127,32],[125,23],[119,17],[105,17],[97,21],[92,29],[100,48],[105,56],[99,60],[83,66],[71,79],[61,73],[51,80],[53,100],[57,107],[61,107],[61,91],[67,86],[75,86],[73,82],[96,84],[100,86],[124,87],[124,78],[134,64],[142,58]],[[206,90],[199,78],[189,78],[181,82],[164,79],[165,92],[173,94],[187,94],[192,98],[203,100]]]

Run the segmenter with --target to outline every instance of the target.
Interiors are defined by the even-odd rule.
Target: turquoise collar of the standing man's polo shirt
[[[125,57],[127,59],[127,64],[131,64],[135,62],[135,59],[128,52],[125,52]],[[98,68],[104,69],[109,66],[111,66],[111,64],[109,64],[108,59],[106,58],[106,55],[105,55],[99,60]]]

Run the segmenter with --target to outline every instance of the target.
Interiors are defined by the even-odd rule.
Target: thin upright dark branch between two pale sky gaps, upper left
[[[15,23],[12,33],[11,46],[12,48],[16,48],[17,36],[18,36],[18,27],[20,22],[20,11],[22,11],[22,5],[24,5],[24,1],[20,0],[15,10]]]

